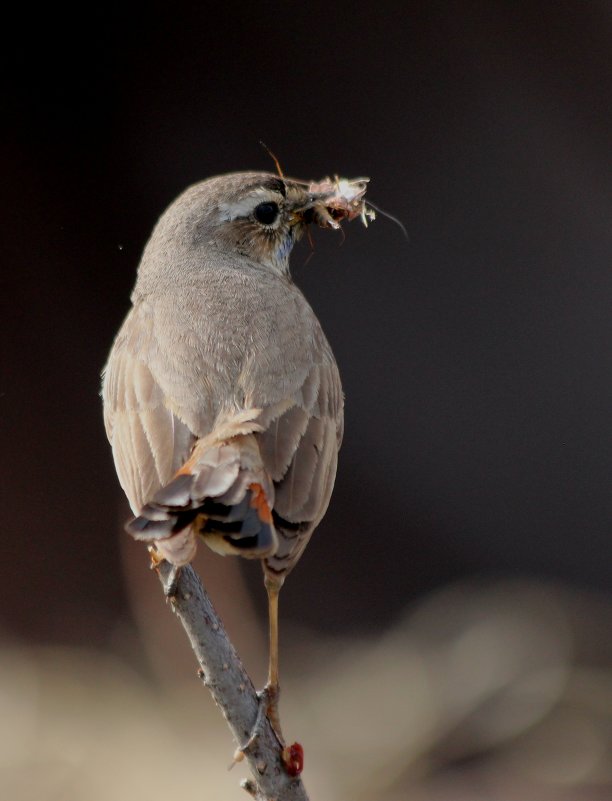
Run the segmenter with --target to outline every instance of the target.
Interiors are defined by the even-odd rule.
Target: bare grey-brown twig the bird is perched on
[[[199,675],[225,715],[251,770],[253,778],[242,786],[256,801],[308,801],[300,779],[289,776],[284,768],[282,746],[267,717],[260,714],[253,683],[197,573],[187,566],[177,576],[168,562],[159,565],[158,573],[166,592],[172,585],[172,607],[189,637]]]

